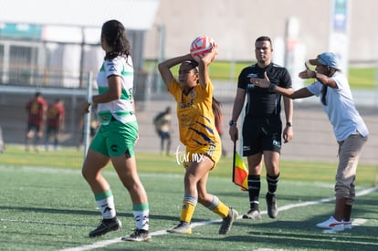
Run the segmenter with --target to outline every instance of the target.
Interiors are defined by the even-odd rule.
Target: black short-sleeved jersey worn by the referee
[[[267,72],[271,83],[282,88],[291,88],[291,78],[286,68],[270,63],[266,68],[259,68],[257,64],[243,68],[237,80],[237,87],[247,91],[246,116],[274,117],[281,111],[281,95],[268,89],[259,88],[249,81],[249,78],[265,78]]]

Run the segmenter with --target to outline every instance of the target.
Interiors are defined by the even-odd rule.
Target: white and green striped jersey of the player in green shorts
[[[99,94],[109,89],[108,78],[110,76],[120,76],[122,93],[121,98],[108,103],[100,103],[98,113],[102,125],[110,123],[111,117],[122,123],[135,121],[134,109],[132,104],[132,87],[134,80],[134,70],[132,59],[117,57],[111,60],[105,60],[97,76]]]

